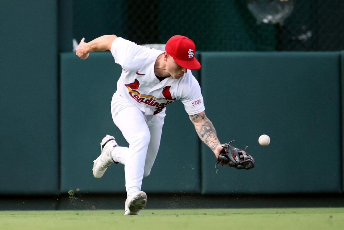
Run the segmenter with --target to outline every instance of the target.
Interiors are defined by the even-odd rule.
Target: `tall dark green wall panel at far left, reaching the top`
[[[0,194],[58,194],[57,1],[2,3]]]

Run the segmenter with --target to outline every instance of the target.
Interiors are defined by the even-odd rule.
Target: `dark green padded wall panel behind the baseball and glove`
[[[202,53],[207,116],[222,143],[248,145],[256,160],[252,170],[220,167],[215,174],[215,157],[202,145],[202,192],[340,192],[339,57]],[[271,137],[269,146],[258,144],[261,134]]]

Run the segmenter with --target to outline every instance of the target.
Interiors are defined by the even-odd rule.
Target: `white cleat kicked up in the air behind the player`
[[[106,169],[112,163],[117,163],[112,160],[111,151],[118,146],[115,138],[110,135],[106,135],[100,143],[101,154],[93,161],[93,176],[100,178],[104,175]]]

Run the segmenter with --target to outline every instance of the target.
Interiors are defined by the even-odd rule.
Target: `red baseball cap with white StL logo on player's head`
[[[188,70],[201,68],[200,62],[195,57],[196,46],[190,39],[182,35],[174,35],[167,42],[165,51],[170,54],[174,61]]]

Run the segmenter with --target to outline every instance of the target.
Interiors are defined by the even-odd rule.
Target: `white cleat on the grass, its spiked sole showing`
[[[130,195],[126,199],[124,216],[140,215],[141,209],[144,209],[147,203],[147,195],[143,191],[139,191]]]

